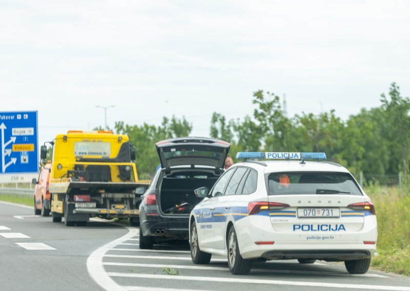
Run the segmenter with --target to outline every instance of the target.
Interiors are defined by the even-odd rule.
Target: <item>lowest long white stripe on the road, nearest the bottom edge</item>
[[[402,286],[382,286],[382,285],[361,285],[361,284],[338,284],[324,282],[306,281],[283,281],[283,280],[261,280],[261,279],[242,279],[238,277],[198,277],[198,276],[174,276],[174,275],[155,275],[155,274],[135,274],[135,273],[108,273],[111,277],[144,278],[144,279],[165,279],[165,280],[185,280],[202,282],[223,282],[223,283],[250,283],[268,285],[291,285],[291,286],[312,286],[312,287],[331,287],[331,288],[354,288],[372,290],[395,290],[410,291],[410,287]]]

